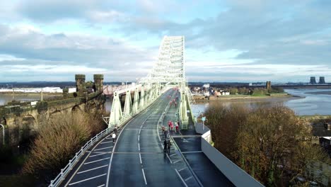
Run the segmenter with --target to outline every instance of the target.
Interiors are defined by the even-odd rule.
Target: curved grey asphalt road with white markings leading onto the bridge
[[[163,153],[157,122],[169,103],[166,96],[173,93],[167,91],[129,121],[117,132],[116,143],[108,136],[86,152],[62,186],[187,186],[185,180],[197,186],[192,176],[183,179],[179,174],[176,168],[185,163],[174,148],[170,154]]]

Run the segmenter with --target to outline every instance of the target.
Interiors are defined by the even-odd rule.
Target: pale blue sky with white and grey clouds
[[[0,81],[135,81],[164,35],[185,35],[189,81],[331,81],[330,0],[12,0]]]

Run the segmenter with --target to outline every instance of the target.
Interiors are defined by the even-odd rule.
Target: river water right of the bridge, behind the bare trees
[[[286,89],[287,93],[300,98],[263,98],[258,100],[240,101],[212,101],[220,102],[223,105],[231,103],[243,104],[248,107],[257,105],[272,105],[273,103],[283,103],[295,111],[297,115],[331,115],[331,89]],[[314,92],[329,92],[329,94],[316,94]],[[203,113],[209,103],[197,103],[192,106],[194,115]]]

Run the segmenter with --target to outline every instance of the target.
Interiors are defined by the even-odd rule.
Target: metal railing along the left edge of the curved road
[[[92,137],[91,140],[88,140],[83,147],[79,150],[79,152],[76,152],[73,159],[69,160],[69,163],[66,164],[64,169],[61,169],[61,172],[55,177],[54,180],[50,182],[49,187],[53,186],[59,186],[59,184],[65,179],[65,177],[69,174],[71,169],[79,162],[79,159],[83,156],[83,154],[92,147],[92,145],[95,144],[95,142],[98,142],[101,138],[105,137],[105,135],[108,135],[114,128],[106,128],[105,130],[98,133],[98,135],[95,135],[95,137]]]

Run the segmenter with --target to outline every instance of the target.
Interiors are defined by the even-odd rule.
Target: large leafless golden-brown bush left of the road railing
[[[81,146],[103,129],[97,120],[100,116],[81,111],[52,115],[40,128],[23,172],[44,179],[59,173]]]

